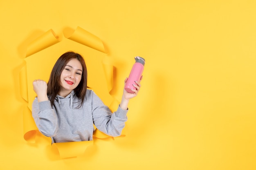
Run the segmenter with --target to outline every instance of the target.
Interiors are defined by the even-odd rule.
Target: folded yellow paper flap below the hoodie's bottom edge
[[[92,144],[93,141],[76,141],[54,143],[52,147],[54,150],[58,150],[60,158],[70,158],[83,155],[88,146]]]

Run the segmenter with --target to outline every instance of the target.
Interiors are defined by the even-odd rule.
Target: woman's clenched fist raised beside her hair
[[[47,83],[41,79],[33,81],[33,90],[36,92],[38,102],[48,100],[47,97]]]

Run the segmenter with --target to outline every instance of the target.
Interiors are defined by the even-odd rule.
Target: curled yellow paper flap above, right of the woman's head
[[[101,39],[89,33],[88,31],[85,31],[79,26],[76,28],[76,30],[66,28],[63,31],[63,35],[65,36],[65,38],[68,38],[70,40],[83,44],[85,46],[89,46],[92,49],[106,53],[105,47]]]

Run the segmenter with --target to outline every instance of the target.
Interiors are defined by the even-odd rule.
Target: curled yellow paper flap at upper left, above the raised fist
[[[54,31],[50,29],[49,31],[45,32],[43,35],[29,43],[27,47],[26,57],[39,51],[42,51],[43,49],[46,49],[49,46],[52,46],[58,42],[60,42],[58,40],[58,36],[56,36]]]

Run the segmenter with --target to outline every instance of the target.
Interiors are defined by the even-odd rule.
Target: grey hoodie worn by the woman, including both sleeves
[[[107,135],[116,137],[127,121],[128,110],[120,107],[111,113],[101,99],[92,90],[87,90],[85,100],[80,108],[80,99],[72,91],[67,97],[56,96],[55,107],[50,101],[38,102],[37,97],[32,104],[32,116],[38,130],[54,142],[90,141],[94,126]]]

